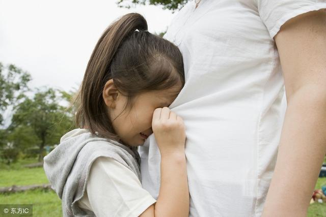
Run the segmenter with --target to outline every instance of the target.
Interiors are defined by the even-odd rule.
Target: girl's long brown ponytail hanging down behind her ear
[[[92,133],[99,132],[103,134],[105,132],[106,137],[112,139],[118,138],[114,133],[111,120],[107,118],[103,100],[101,99],[104,85],[103,79],[111,79],[111,75],[107,75],[110,72],[111,62],[119,46],[136,29],[147,29],[145,18],[137,13],[126,14],[108,26],[98,40],[88,62],[83,83],[77,96],[77,98],[80,98],[79,108],[76,112],[76,123],[79,127],[86,127]],[[95,93],[96,95],[94,95]],[[97,125],[93,124],[93,118],[91,118],[94,114],[98,115],[93,117],[99,123]],[[106,129],[103,129],[103,126],[106,126]]]

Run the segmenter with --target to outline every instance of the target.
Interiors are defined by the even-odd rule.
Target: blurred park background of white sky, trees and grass
[[[75,128],[69,102],[97,40],[131,12],[163,36],[187,2],[0,0],[0,204],[33,204],[34,216],[62,216],[42,160]],[[325,175],[316,190],[326,185]],[[311,204],[309,216],[326,216],[324,202]]]

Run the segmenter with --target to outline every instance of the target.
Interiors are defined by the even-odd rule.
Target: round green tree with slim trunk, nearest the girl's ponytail
[[[17,148],[38,146],[41,161],[44,146],[58,144],[62,135],[73,127],[71,113],[60,105],[67,95],[64,91],[46,88],[37,89],[33,98],[26,97],[14,107],[8,139]],[[29,132],[30,136],[24,136],[23,132]]]

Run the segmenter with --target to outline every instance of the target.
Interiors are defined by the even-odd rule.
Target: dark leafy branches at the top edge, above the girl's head
[[[129,2],[129,4],[125,4]],[[118,0],[117,4],[120,8],[130,8],[130,4],[133,5],[161,5],[163,9],[172,10],[175,12],[176,10],[180,10],[188,0]]]

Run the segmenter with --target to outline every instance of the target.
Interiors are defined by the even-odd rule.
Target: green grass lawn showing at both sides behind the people
[[[0,187],[48,183],[43,168],[24,168],[22,165],[34,163],[28,159],[10,166],[0,164]],[[315,189],[326,185],[326,177],[318,178]],[[62,216],[61,201],[51,190],[32,190],[19,193],[0,194],[0,204],[33,204],[33,216]],[[326,216],[326,203],[313,203],[308,209],[309,217]]]

